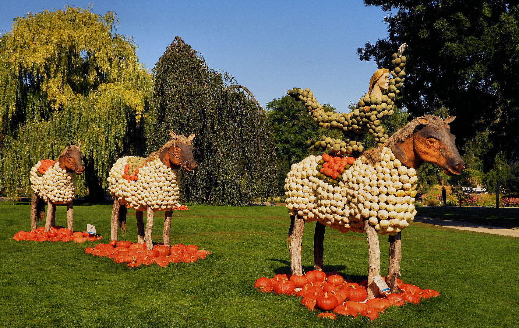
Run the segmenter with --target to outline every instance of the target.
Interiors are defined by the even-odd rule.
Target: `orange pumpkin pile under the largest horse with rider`
[[[382,294],[384,297],[366,300],[367,280],[353,282],[345,280],[338,272],[309,271],[304,276],[278,274],[274,278],[259,278],[254,288],[260,292],[303,297],[301,304],[310,311],[322,310],[318,317],[336,319],[336,315],[352,316],[360,314],[371,320],[378,318],[389,306],[403,306],[406,302],[420,303],[420,299],[430,299],[440,293],[431,289],[404,284],[398,279],[397,286],[402,293]],[[332,311],[332,312],[329,312]]]

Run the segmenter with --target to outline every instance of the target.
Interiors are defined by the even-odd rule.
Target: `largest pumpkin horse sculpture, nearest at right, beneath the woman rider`
[[[380,271],[377,233],[389,234],[390,258],[387,282],[392,291],[400,271],[400,231],[414,219],[417,171],[425,161],[440,166],[448,175],[465,168],[450,133],[456,116],[425,115],[395,132],[383,145],[357,158],[338,177],[338,185],[321,180],[319,162],[334,161],[327,154],[309,156],[292,165],[285,182],[291,217],[288,241],[292,274],[301,275],[301,241],[305,222],[318,221],[314,240],[314,265],[322,269],[325,226],[340,232],[366,232],[369,246],[368,298],[378,296],[373,277]],[[340,159],[340,158],[339,158]],[[321,162],[322,163],[322,162]]]

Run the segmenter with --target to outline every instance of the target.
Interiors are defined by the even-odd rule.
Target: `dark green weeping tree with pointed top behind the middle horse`
[[[155,87],[146,121],[147,150],[169,140],[168,130],[195,133],[198,167],[183,173],[183,201],[211,204],[265,202],[274,195],[276,155],[268,118],[233,79],[207,67],[175,37],[153,70]]]

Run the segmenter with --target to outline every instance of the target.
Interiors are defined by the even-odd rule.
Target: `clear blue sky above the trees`
[[[117,33],[132,36],[140,62],[152,69],[175,35],[200,52],[210,68],[229,72],[265,107],[289,88],[309,87],[320,103],[349,112],[377,69],[357,48],[388,35],[379,7],[353,1],[6,1],[0,30],[27,12],[65,5],[119,18]],[[396,51],[397,49],[395,49]]]

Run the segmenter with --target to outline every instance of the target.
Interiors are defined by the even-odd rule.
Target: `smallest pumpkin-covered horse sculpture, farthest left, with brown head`
[[[40,214],[47,203],[45,232],[56,226],[56,205],[67,205],[67,229],[73,231],[72,200],[76,196],[76,174],[83,173],[81,161],[81,140],[77,146],[67,143],[65,149],[54,162],[51,159],[40,160],[31,169],[31,188],[34,196],[31,204],[31,229],[36,229]]]

